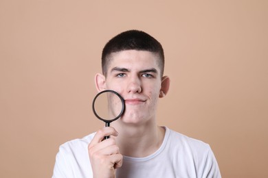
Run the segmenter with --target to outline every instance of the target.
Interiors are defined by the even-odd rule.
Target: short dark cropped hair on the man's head
[[[102,73],[107,75],[107,67],[109,65],[109,57],[111,53],[116,53],[125,50],[150,51],[159,55],[160,75],[164,73],[164,50],[157,40],[146,34],[144,31],[129,30],[113,37],[102,50]]]

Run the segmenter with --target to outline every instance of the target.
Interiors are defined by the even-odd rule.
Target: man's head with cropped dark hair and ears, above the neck
[[[96,88],[114,90],[124,98],[122,122],[150,122],[156,116],[158,99],[169,89],[170,79],[163,71],[161,44],[143,31],[125,31],[104,47],[103,74],[96,74]]]

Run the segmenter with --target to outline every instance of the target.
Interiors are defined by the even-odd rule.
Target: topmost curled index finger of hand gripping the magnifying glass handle
[[[101,142],[104,136],[118,136],[118,132],[113,127],[104,127],[102,129],[99,129],[91,140],[89,147],[93,147],[94,145]]]

